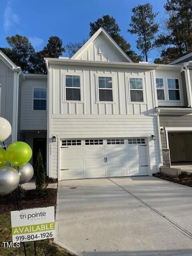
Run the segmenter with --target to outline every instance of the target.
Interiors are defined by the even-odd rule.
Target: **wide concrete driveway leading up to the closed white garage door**
[[[192,188],[150,176],[58,184],[57,244],[84,256],[192,255]]]

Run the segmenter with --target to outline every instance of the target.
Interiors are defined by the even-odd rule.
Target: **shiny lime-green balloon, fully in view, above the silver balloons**
[[[32,157],[32,149],[22,141],[10,144],[6,150],[7,161],[12,165],[26,164]]]

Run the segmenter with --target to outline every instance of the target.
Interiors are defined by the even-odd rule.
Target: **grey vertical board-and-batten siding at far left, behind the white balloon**
[[[11,126],[13,122],[13,88],[14,72],[0,60],[0,116],[6,118]],[[5,141],[8,146],[12,143],[12,136]]]

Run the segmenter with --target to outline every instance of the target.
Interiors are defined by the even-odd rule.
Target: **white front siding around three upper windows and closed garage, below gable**
[[[82,102],[65,101],[64,77],[80,75]],[[60,138],[135,138],[149,140],[150,172],[160,164],[152,71],[50,66],[49,175],[58,177]],[[111,76],[114,102],[98,101],[98,76]],[[128,77],[143,79],[144,102],[130,102]],[[51,97],[52,96],[52,97]]]

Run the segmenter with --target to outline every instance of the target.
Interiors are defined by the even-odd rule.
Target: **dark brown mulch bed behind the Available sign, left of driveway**
[[[57,189],[47,188],[46,191],[44,197],[39,197],[37,190],[26,190],[24,198],[21,199],[22,209],[46,206],[54,206],[56,209]],[[15,201],[14,193],[0,196],[0,213],[16,210]]]

